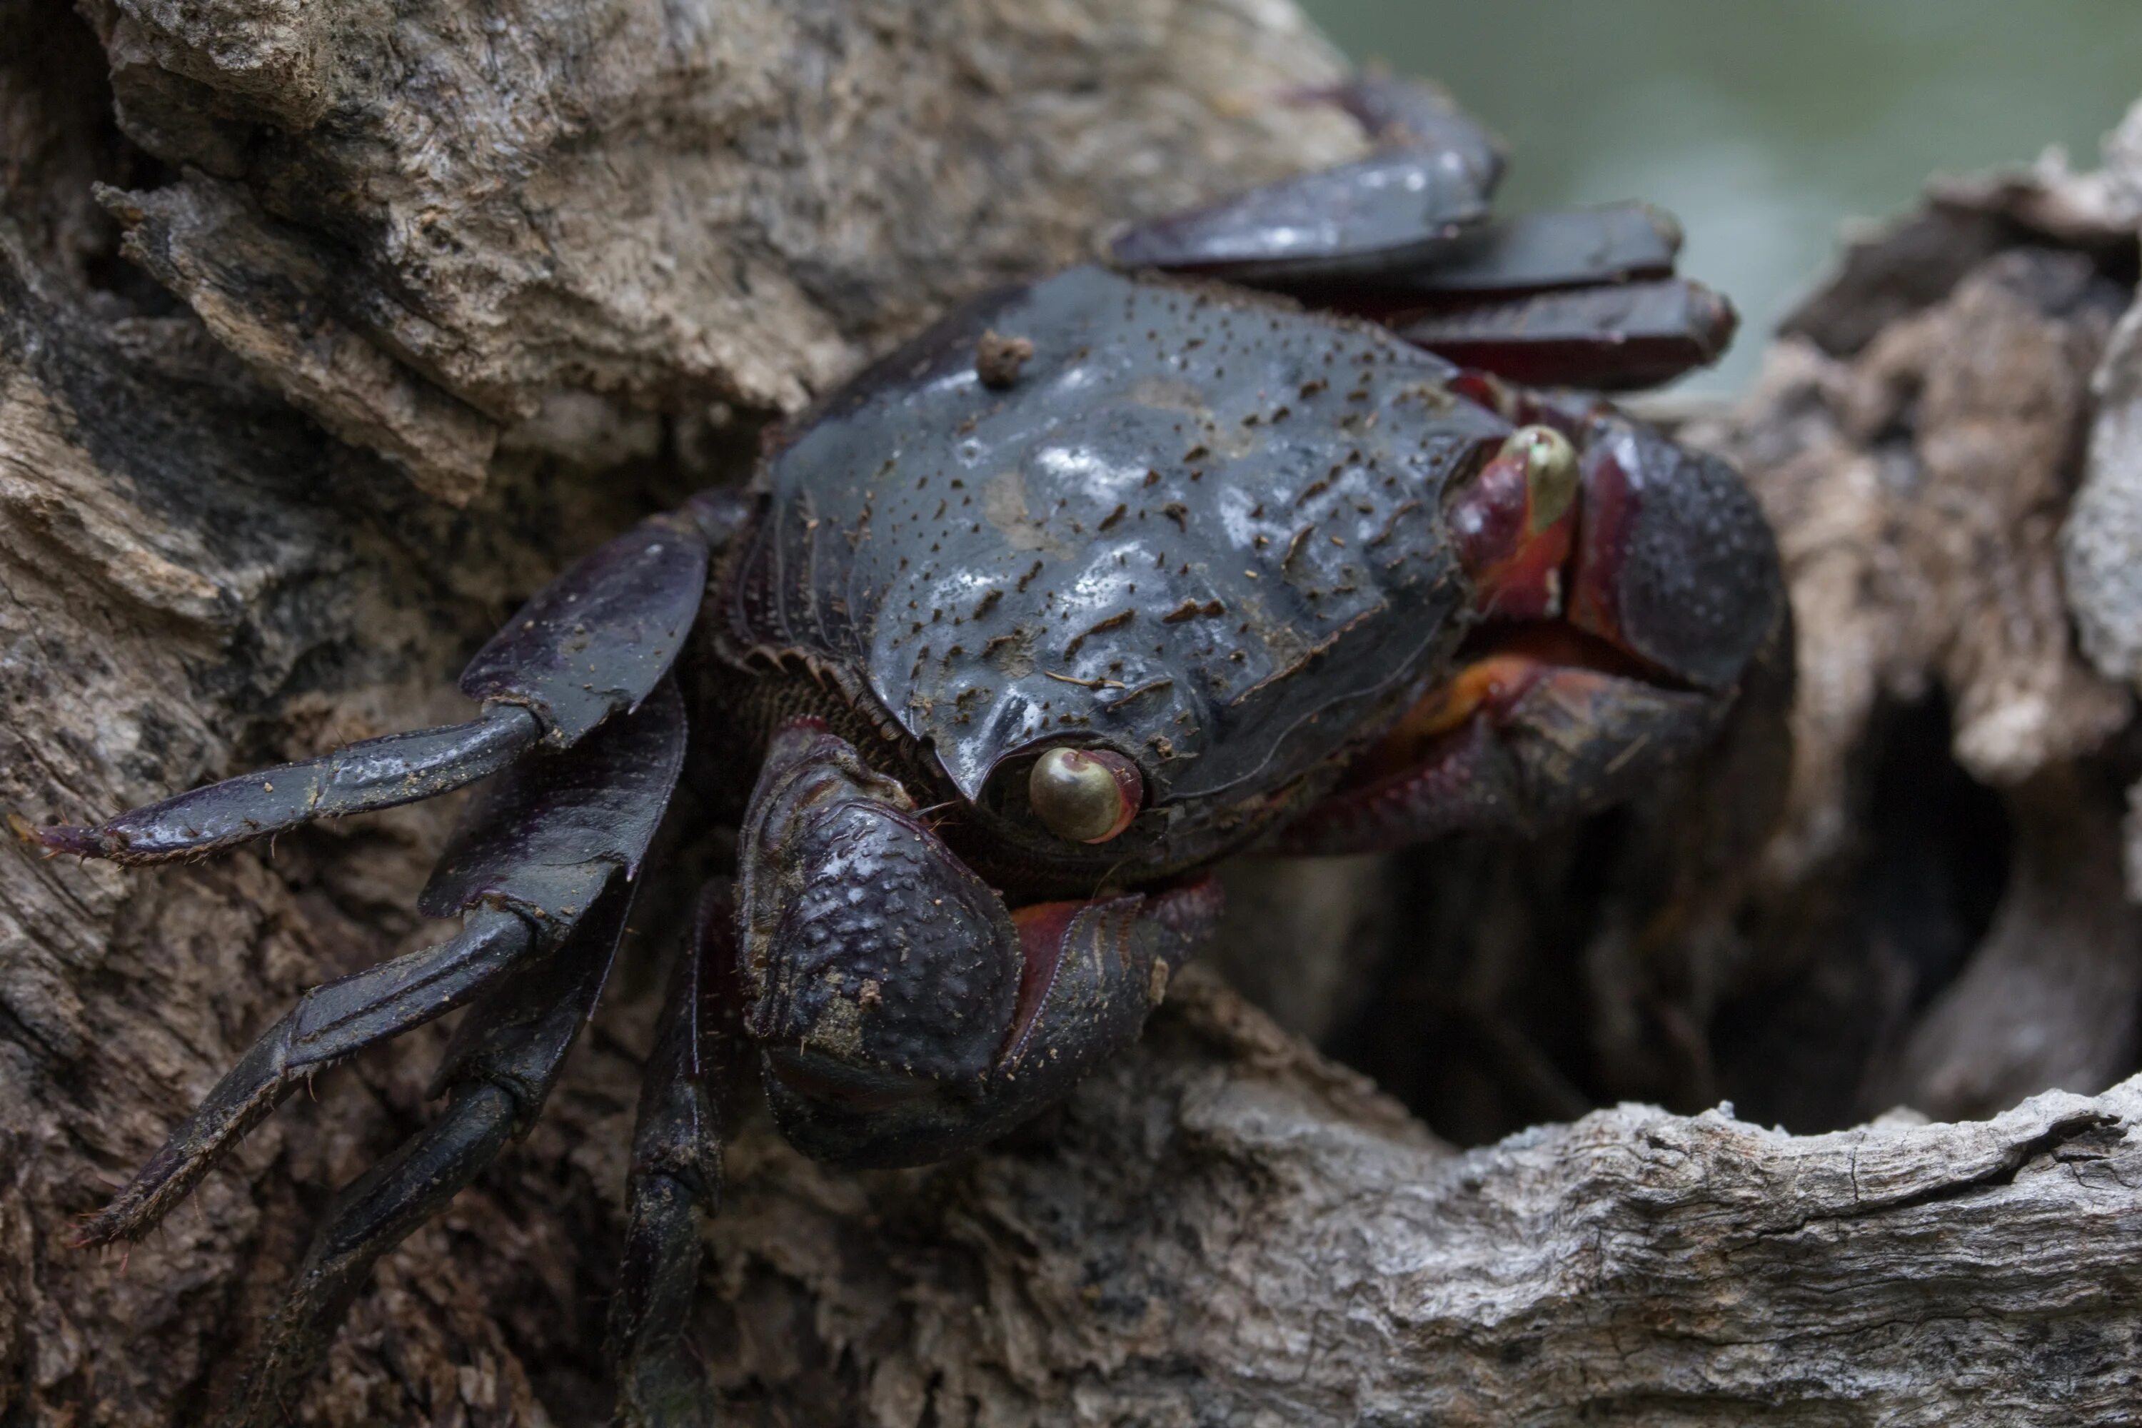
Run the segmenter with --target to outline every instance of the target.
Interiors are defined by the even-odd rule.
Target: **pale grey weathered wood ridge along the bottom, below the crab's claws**
[[[2131,1409],[2142,1083],[1821,1137],[1626,1105],[1454,1154],[1182,983],[1032,1148],[833,1182],[748,1139],[705,1323],[737,1400],[816,1383],[797,1422],[962,1426]]]

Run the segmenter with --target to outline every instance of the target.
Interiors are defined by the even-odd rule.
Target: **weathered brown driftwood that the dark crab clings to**
[[[1358,143],[1281,103],[1337,60],[1279,0],[86,13],[0,4],[0,811],[30,820],[458,717],[461,659],[570,552],[737,480],[945,304]],[[1939,191],[1686,426],[1780,527],[1791,728],[1540,846],[1236,869],[1212,968],[987,1154],[835,1175],[748,1124],[711,1396],[2131,1417],[2142,1081],[2103,1088],[2142,1008],[2138,150]],[[0,856],[0,1422],[229,1392],[441,1034],[321,1077],[126,1263],[71,1216],[304,985],[416,944],[450,816],[137,873]],[[300,1422],[602,1422],[658,923]],[[2005,1109],[2048,1085],[2082,1094]],[[1592,1109],[1619,1098],[1671,1109]]]

